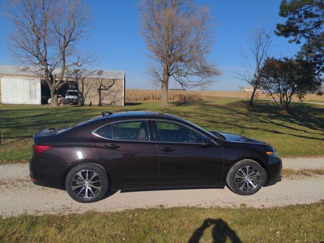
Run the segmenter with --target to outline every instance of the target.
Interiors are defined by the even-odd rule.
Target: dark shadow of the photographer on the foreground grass
[[[198,243],[203,236],[205,229],[212,227],[213,242],[223,243],[229,238],[231,242],[241,243],[242,241],[236,235],[228,224],[222,219],[205,219],[204,223],[197,228],[191,235],[188,243]]]

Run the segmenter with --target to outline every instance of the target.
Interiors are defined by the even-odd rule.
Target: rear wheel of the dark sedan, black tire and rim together
[[[93,203],[100,200],[106,194],[108,187],[109,177],[106,171],[92,163],[75,166],[65,179],[67,193],[79,203]]]

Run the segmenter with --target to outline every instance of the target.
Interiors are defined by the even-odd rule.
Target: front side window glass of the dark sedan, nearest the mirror
[[[201,143],[204,136],[186,126],[169,121],[155,121],[161,142]]]

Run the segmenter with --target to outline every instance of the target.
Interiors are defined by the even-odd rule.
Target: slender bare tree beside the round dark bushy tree
[[[268,57],[268,52],[272,43],[272,30],[267,30],[264,26],[251,30],[249,37],[250,50],[249,54],[240,52],[244,71],[238,73],[238,78],[249,83],[253,87],[250,106],[253,106],[253,101],[258,89],[262,87],[261,68]]]

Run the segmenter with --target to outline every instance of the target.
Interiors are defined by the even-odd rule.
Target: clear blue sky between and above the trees
[[[0,13],[4,0],[0,0]],[[126,88],[157,88],[149,84],[146,74],[147,58],[145,45],[139,34],[139,11],[137,2],[124,1],[88,1],[95,15],[96,28],[89,40],[82,44],[84,50],[98,53],[100,60],[92,65],[94,69],[125,70]],[[207,5],[211,9],[215,29],[215,44],[209,60],[216,63],[222,75],[215,78],[210,90],[231,91],[238,86],[246,86],[236,78],[241,66],[238,53],[240,47],[248,48],[248,36],[251,29],[266,23],[274,28],[284,19],[278,16],[280,1],[196,1],[198,5]],[[11,58],[6,36],[11,24],[5,19],[0,22],[0,64],[15,64]],[[273,56],[292,57],[299,50],[296,44],[289,44],[284,37],[273,36],[271,54]],[[175,88],[175,85],[172,85]]]

